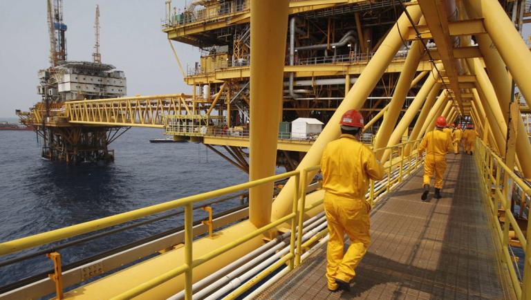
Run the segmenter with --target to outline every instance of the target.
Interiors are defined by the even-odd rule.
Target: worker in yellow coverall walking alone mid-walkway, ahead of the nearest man
[[[436,129],[429,131],[422,139],[418,148],[418,156],[426,151],[424,160],[424,192],[420,197],[422,201],[427,200],[429,194],[429,183],[435,173],[435,198],[440,199],[440,189],[443,189],[443,175],[446,171],[446,153],[451,150],[451,138],[443,129],[446,126],[446,118],[440,116],[435,122]]]

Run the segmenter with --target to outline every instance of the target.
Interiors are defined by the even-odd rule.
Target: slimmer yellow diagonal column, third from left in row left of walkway
[[[443,70],[443,64],[437,64],[438,70]],[[398,125],[396,126],[393,133],[391,133],[391,137],[386,139],[386,146],[391,147],[395,144],[399,144],[400,140],[402,139],[402,135],[404,134],[404,131],[407,131],[409,128],[409,124],[413,122],[413,119],[417,115],[418,111],[420,111],[420,108],[422,107],[422,104],[425,103],[427,96],[431,92],[432,89],[436,89],[438,93],[440,86],[442,84],[437,83],[437,80],[439,79],[439,73],[436,69],[431,71],[424,82],[422,84],[422,88],[420,88],[420,91],[418,91],[417,95],[415,96],[415,99],[413,99],[413,102],[409,105],[407,108],[406,113],[402,115],[402,118],[400,119],[400,122],[398,122]],[[390,110],[389,110],[390,111]],[[394,127],[394,124],[393,124]],[[382,130],[382,129],[380,129]],[[390,129],[389,129],[390,130]],[[382,163],[386,162],[389,159],[389,155],[391,154],[391,149],[387,149],[384,151],[383,155],[382,153],[376,153],[377,158],[381,158]]]

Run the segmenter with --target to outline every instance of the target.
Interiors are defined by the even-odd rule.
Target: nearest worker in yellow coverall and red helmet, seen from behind
[[[369,179],[380,180],[384,176],[374,153],[359,141],[364,126],[361,113],[347,111],[339,124],[342,135],[326,145],[321,160],[329,235],[326,279],[331,291],[350,290],[354,270],[371,243],[371,207],[365,200]],[[345,233],[351,245],[344,254]]]

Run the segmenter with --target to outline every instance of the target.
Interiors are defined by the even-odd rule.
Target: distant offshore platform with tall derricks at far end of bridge
[[[50,37],[50,67],[39,70],[37,94],[42,101],[31,113],[17,111],[24,124],[32,124],[42,139],[41,156],[68,163],[113,160],[108,145],[127,129],[121,127],[72,126],[64,118],[64,103],[73,100],[122,97],[127,94],[123,71],[102,64],[100,53],[100,8],[95,11],[95,44],[93,62],[68,61],[66,56],[66,24],[63,1],[47,0]]]

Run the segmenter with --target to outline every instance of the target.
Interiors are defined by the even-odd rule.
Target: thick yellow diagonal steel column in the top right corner
[[[487,33],[514,76],[525,101],[531,106],[531,53],[512,21],[497,0],[469,0],[463,3],[469,15],[483,17]]]

